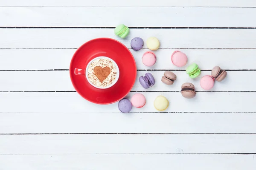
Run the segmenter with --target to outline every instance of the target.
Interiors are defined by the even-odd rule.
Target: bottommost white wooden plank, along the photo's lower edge
[[[4,170],[255,170],[253,158],[228,154],[0,155]]]

